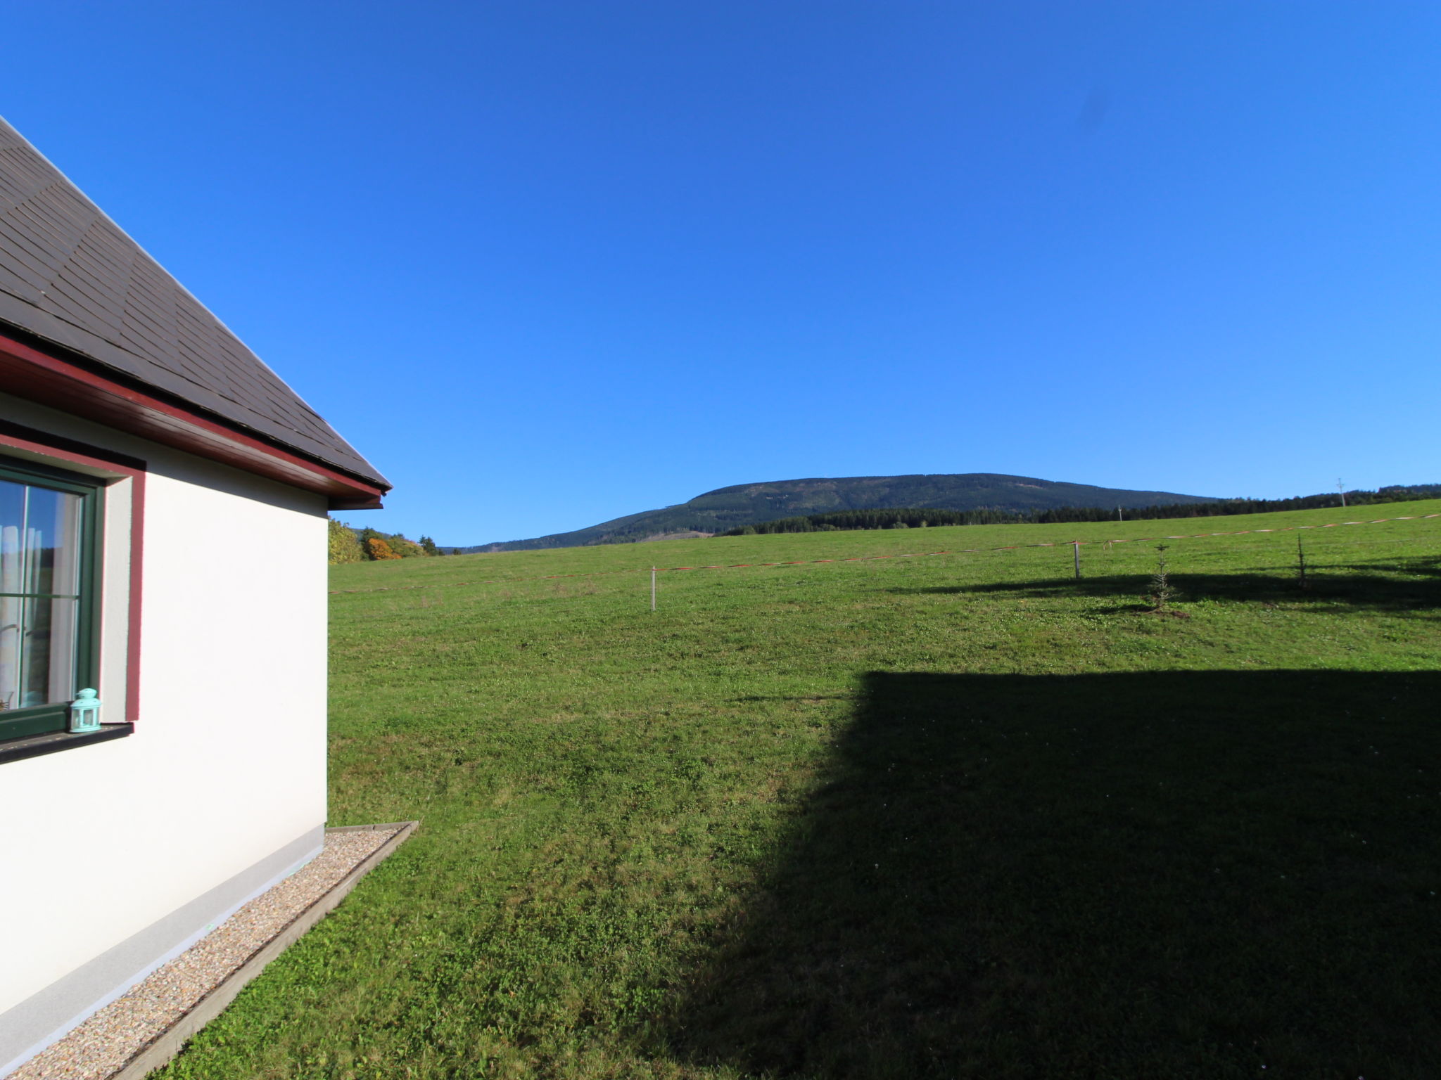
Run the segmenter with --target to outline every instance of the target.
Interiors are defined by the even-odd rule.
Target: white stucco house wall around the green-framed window
[[[324,824],[326,504],[6,395],[0,416],[148,465],[135,734],[0,763],[4,1014]],[[115,494],[102,720],[124,701]]]

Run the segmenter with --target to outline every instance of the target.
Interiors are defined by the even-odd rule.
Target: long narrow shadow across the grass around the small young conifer
[[[1386,576],[1385,572],[1401,576]],[[1232,600],[1254,603],[1326,603],[1347,605],[1356,611],[1431,611],[1441,608],[1441,567],[1435,560],[1414,559],[1386,566],[1308,567],[1307,588],[1295,575],[1274,573],[1172,573],[1176,599]],[[1094,596],[1115,600],[1108,611],[1136,611],[1150,592],[1146,575],[1107,577],[1049,577],[1036,582],[987,582],[984,585],[942,585],[928,589],[895,589],[914,593],[1026,593],[1030,596]]]

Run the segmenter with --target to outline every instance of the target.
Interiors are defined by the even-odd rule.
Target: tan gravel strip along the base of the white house
[[[199,942],[131,986],[9,1080],[105,1080],[189,1012],[291,920],[373,854],[395,829],[327,832],[324,850]]]

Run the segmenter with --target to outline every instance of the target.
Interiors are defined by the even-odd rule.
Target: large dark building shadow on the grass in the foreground
[[[775,1077],[1434,1077],[1438,701],[1441,672],[870,674],[667,1050]]]

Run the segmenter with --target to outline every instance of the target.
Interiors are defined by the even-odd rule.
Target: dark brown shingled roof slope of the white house
[[[389,487],[375,465],[4,120],[0,321]]]

